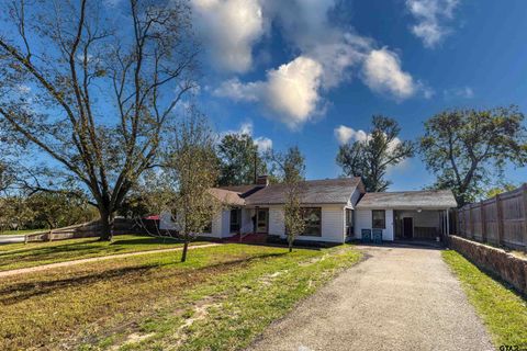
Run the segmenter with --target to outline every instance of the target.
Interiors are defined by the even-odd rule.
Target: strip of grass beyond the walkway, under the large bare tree
[[[202,242],[193,242],[200,245]],[[0,245],[0,271],[117,253],[169,249],[182,246],[171,239],[120,235],[112,242],[97,238]]]

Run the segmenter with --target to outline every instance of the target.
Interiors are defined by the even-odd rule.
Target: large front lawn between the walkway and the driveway
[[[159,252],[2,280],[0,349],[237,350],[360,253],[232,244],[178,259]]]

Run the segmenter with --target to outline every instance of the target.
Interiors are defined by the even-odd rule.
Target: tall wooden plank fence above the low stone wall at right
[[[458,210],[457,235],[527,251],[527,183]]]

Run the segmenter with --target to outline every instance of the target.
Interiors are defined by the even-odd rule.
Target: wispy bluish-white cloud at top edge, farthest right
[[[419,37],[426,47],[435,47],[451,33],[445,23],[453,18],[459,0],[406,0],[406,8],[413,14],[416,24],[412,33]]]

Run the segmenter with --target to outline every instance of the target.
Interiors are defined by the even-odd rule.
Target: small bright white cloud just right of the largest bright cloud
[[[412,97],[418,86],[401,69],[401,60],[388,48],[371,50],[363,64],[363,81],[371,90],[390,93],[397,99]]]

